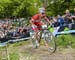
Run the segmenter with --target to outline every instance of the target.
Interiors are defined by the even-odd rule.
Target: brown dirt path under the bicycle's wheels
[[[75,49],[57,49],[53,54],[49,54],[45,47],[33,49],[31,45],[19,48],[20,60],[75,60]]]

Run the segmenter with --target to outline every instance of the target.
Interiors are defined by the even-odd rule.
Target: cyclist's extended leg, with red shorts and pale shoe
[[[35,25],[33,25],[32,29],[35,32],[35,40],[36,40],[36,45],[40,46],[40,30],[41,30],[41,25],[42,22],[37,22]]]

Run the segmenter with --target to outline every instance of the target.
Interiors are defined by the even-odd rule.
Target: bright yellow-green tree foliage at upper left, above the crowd
[[[0,0],[0,17],[31,16],[40,5],[38,0]]]

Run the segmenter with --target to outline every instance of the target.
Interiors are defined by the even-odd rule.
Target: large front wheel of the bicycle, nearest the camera
[[[50,31],[44,32],[45,45],[48,48],[48,51],[53,53],[56,50],[55,37]]]

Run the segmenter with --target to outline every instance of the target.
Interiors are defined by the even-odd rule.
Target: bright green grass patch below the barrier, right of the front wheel
[[[56,38],[57,46],[72,47],[75,48],[75,36],[74,35],[60,35]]]

